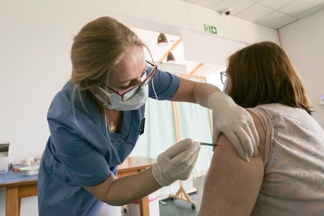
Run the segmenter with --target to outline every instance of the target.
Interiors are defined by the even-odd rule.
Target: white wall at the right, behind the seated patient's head
[[[324,128],[324,10],[279,29],[282,47],[301,74],[315,112],[312,114]]]

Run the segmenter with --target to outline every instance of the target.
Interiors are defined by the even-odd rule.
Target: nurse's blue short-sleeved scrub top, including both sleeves
[[[147,69],[147,72],[151,68]],[[157,70],[154,90],[158,100],[170,99],[179,87],[179,77]],[[132,152],[144,118],[145,105],[137,110],[124,111],[120,133],[106,132],[104,117],[83,93],[71,100],[72,83],[67,82],[54,97],[47,119],[50,138],[42,156],[38,172],[39,215],[95,215],[102,202],[83,186],[96,186],[104,182],[117,165]],[[149,97],[155,99],[152,82]],[[74,108],[73,108],[74,107]]]

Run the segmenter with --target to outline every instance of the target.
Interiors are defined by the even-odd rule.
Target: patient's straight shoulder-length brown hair
[[[227,74],[228,94],[239,106],[280,103],[311,114],[301,77],[286,52],[274,42],[258,42],[231,55]]]

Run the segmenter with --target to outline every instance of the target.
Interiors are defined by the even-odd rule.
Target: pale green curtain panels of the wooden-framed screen
[[[195,79],[197,81],[197,79]],[[204,80],[198,80],[204,81]],[[192,138],[198,142],[212,142],[210,110],[197,104],[178,104],[180,139]],[[170,101],[149,99],[145,109],[145,129],[136,144],[133,155],[156,158],[176,143],[173,104]],[[206,171],[211,163],[212,147],[201,146],[193,175]]]

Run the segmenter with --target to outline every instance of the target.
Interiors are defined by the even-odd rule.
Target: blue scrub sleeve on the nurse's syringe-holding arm
[[[96,186],[110,175],[107,161],[80,133],[78,127],[58,116],[48,116],[53,145],[70,180]]]

